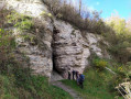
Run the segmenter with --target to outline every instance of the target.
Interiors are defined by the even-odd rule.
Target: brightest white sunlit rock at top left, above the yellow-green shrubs
[[[18,12],[40,16],[43,11],[48,12],[47,7],[41,0],[7,0],[8,9],[15,9]]]

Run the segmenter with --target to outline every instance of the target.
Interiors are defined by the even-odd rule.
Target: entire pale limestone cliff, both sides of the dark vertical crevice
[[[92,53],[100,57],[109,57],[106,50],[100,47],[100,42],[103,41],[101,36],[81,32],[67,22],[50,16],[51,12],[41,0],[8,0],[7,3],[8,9],[36,18],[42,24],[41,35],[36,36],[37,30],[34,33],[40,41],[36,45],[18,37],[19,31],[13,29],[18,48],[30,58],[34,74],[51,77],[55,69],[64,76],[68,68],[83,73],[89,66]],[[43,12],[50,15],[45,18],[42,15]]]

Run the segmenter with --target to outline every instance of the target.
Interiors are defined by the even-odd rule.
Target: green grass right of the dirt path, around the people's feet
[[[75,80],[62,80],[67,86],[78,91],[84,99],[123,99],[119,97],[111,86],[113,75],[109,72],[97,72],[90,68],[85,72],[84,89],[77,86]]]

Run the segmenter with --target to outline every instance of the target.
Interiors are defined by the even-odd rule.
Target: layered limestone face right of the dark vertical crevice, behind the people
[[[100,36],[85,33],[63,21],[54,22],[57,32],[54,32],[53,53],[56,69],[62,74],[68,68],[80,73],[89,66],[88,58],[91,52],[102,57],[102,51],[98,47]]]

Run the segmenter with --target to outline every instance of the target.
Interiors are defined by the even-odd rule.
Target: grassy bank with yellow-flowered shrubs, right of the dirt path
[[[99,65],[100,58],[94,59]],[[114,59],[102,59],[108,63],[106,66],[116,74],[109,70],[98,70],[94,67],[87,68],[84,73],[85,81],[84,89],[77,86],[74,80],[62,80],[80,94],[84,99],[123,99],[114,89],[119,84],[124,82],[124,79],[131,80],[131,63],[125,65],[117,63]],[[101,62],[102,62],[101,61]],[[98,67],[99,68],[99,67]]]

